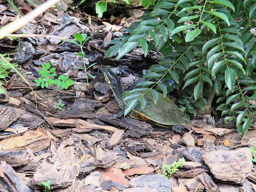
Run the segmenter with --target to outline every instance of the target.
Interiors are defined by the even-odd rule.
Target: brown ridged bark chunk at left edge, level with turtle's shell
[[[0,130],[9,127],[18,117],[19,115],[15,107],[0,105]]]

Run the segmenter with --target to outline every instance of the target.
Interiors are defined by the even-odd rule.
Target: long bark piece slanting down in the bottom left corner
[[[0,162],[0,176],[13,192],[33,192],[33,190],[24,183],[22,178],[18,176],[14,169],[12,169],[11,165],[7,164],[5,161]]]

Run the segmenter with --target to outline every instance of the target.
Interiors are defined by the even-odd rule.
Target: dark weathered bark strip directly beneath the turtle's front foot
[[[110,123],[114,126],[127,128],[128,130],[124,133],[124,137],[135,137],[140,138],[142,136],[148,136],[151,134],[153,128],[150,124],[139,121],[132,117],[126,117],[123,119],[113,118],[107,114],[101,114],[98,117],[101,121]]]

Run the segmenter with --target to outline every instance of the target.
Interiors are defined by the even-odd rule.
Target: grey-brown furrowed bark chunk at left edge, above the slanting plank
[[[30,149],[27,150],[1,150],[0,159],[10,164],[12,167],[18,167],[25,165],[33,157],[33,152]]]

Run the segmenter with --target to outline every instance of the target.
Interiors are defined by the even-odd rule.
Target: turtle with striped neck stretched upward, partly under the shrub
[[[124,110],[129,101],[126,101],[127,103],[123,101],[123,98],[127,96],[128,91],[123,92],[120,79],[110,68],[104,66],[103,73],[106,82],[113,91],[114,97],[122,109],[121,112],[112,115],[112,117],[121,117],[124,114]],[[139,94],[139,92],[136,92],[136,94]],[[128,115],[130,117],[153,123],[161,127],[170,127],[171,125],[175,124],[183,125],[183,114],[178,109],[174,101],[172,101],[168,96],[164,97],[164,95],[160,92],[158,92],[158,96],[158,101],[155,104],[153,100],[153,94],[151,91],[148,91],[146,94],[144,94],[144,98],[146,100],[145,107],[141,109],[141,105],[138,102],[138,104],[133,108],[132,111],[128,113]]]

